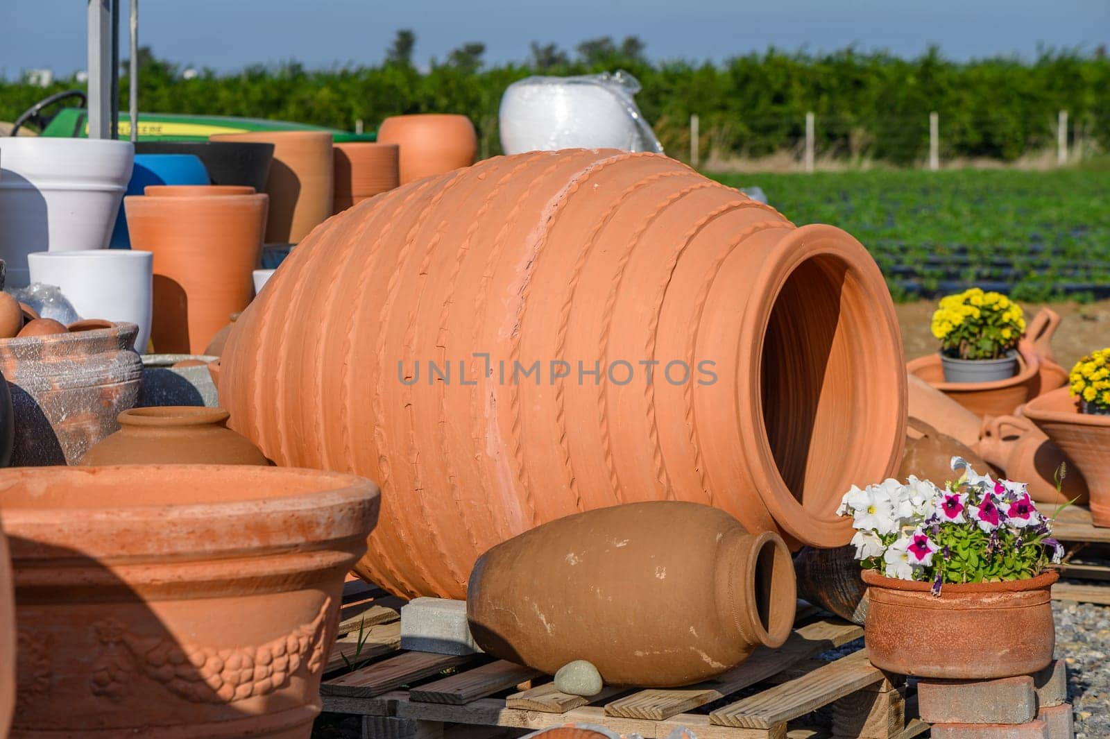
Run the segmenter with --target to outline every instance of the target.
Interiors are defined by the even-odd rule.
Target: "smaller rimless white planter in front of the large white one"
[[[82,318],[139,325],[135,351],[150,338],[154,255],[127,249],[36,252],[27,257],[31,282],[57,285]]]

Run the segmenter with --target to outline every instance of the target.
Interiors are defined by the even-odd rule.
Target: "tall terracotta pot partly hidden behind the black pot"
[[[258,141],[274,145],[266,179],[270,216],[266,243],[297,243],[332,214],[334,164],[326,131],[219,133],[212,141]]]

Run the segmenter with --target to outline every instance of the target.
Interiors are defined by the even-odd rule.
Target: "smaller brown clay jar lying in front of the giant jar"
[[[585,659],[609,685],[683,686],[758,645],[780,646],[796,604],[790,553],[694,503],[634,503],[544,524],[495,546],[466,593],[488,654],[554,675]]]

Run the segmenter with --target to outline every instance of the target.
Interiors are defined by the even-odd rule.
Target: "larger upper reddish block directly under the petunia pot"
[[[932,680],[917,684],[918,710],[929,723],[1027,723],[1037,716],[1028,675],[999,680]]]

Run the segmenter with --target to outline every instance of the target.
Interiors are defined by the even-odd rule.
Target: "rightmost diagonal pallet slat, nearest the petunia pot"
[[[718,708],[709,713],[709,720],[720,726],[766,729],[885,679],[882,671],[867,661],[867,652],[861,649],[797,680]]]

